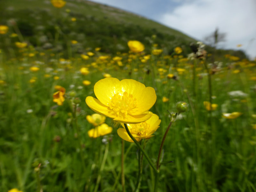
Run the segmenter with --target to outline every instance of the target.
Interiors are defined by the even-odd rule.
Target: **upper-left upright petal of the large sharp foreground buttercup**
[[[94,93],[97,99],[107,106],[111,101],[111,98],[119,91],[120,81],[113,77],[101,79],[94,85]]]

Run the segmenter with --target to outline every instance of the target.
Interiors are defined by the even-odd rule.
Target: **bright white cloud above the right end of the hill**
[[[227,33],[225,48],[242,49],[256,56],[256,1],[255,0],[193,0],[162,14],[159,21],[198,40],[211,34],[216,27]],[[248,47],[249,45],[249,47]]]

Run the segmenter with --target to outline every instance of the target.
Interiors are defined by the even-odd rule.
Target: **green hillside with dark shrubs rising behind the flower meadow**
[[[68,55],[70,45],[67,42],[73,39],[78,41],[76,52],[79,54],[94,47],[101,47],[106,53],[127,52],[127,41],[136,39],[146,45],[146,52],[150,52],[151,37],[156,35],[154,43],[164,48],[165,54],[172,54],[176,46],[181,46],[186,56],[191,52],[189,44],[196,41],[155,21],[90,1],[67,1],[60,9],[53,7],[50,0],[10,0],[1,1],[0,5],[0,23],[10,26],[10,19],[14,19],[25,41],[39,51],[66,50],[65,55]],[[73,17],[75,22],[71,21]],[[12,27],[10,30],[17,32]],[[4,44],[0,46],[5,47]],[[236,55],[233,51],[220,53]],[[237,56],[245,57],[244,53]]]

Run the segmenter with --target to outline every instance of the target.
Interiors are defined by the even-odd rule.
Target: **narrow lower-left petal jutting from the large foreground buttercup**
[[[89,106],[89,108],[91,108],[93,111],[95,111],[96,113],[99,113],[101,115],[110,117],[110,118],[115,118],[116,116],[112,116],[110,115],[108,112],[108,107],[103,105],[99,100],[88,96],[85,99],[86,104]]]

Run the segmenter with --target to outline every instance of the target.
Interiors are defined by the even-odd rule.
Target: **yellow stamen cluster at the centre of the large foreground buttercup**
[[[124,92],[123,95],[116,93],[108,106],[111,109],[111,115],[125,118],[130,110],[137,107],[137,100],[127,92]]]

